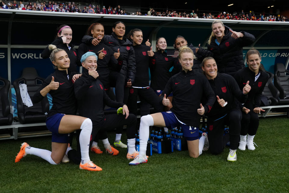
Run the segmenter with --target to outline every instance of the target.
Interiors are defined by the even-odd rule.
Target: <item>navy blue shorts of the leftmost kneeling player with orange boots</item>
[[[49,131],[52,132],[52,142],[57,143],[69,143],[69,133],[67,134],[59,134],[58,128],[60,125],[60,121],[65,114],[57,113],[51,117],[46,119],[46,127]]]

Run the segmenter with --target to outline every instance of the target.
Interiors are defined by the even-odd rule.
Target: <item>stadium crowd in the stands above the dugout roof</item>
[[[19,9],[19,10],[33,10],[33,11],[56,11],[56,12],[73,12],[73,13],[91,13],[91,14],[118,14],[118,15],[144,15],[144,16],[158,16],[158,17],[185,17],[185,18],[202,18],[202,19],[228,19],[228,20],[247,20],[247,21],[289,21],[287,16],[283,16],[280,14],[256,14],[254,11],[244,12],[219,12],[218,14],[211,14],[211,13],[202,13],[198,9],[197,11],[192,10],[190,11],[176,11],[172,10],[169,11],[155,11],[154,8],[149,8],[148,12],[141,13],[141,11],[136,11],[135,13],[129,13],[125,9],[122,9],[120,5],[113,8],[112,6],[105,6],[100,5],[89,5],[88,7],[84,7],[83,9],[79,8],[74,2],[67,2],[67,3],[60,3],[59,5],[57,2],[49,1],[46,3],[45,1],[39,2],[29,2],[28,4],[23,4],[22,1],[17,4],[17,1],[9,2],[7,5],[5,2],[0,0],[0,8],[3,9]]]

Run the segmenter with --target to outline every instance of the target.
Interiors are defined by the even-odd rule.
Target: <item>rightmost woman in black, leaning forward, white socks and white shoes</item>
[[[250,49],[247,52],[246,61],[248,66],[235,74],[240,89],[246,86],[246,81],[250,81],[249,84],[252,88],[246,103],[241,106],[243,112],[239,150],[245,150],[246,145],[248,150],[255,150],[253,139],[259,126],[258,114],[265,111],[260,108],[261,95],[269,79],[269,74],[264,72],[260,66],[261,56],[258,50]]]

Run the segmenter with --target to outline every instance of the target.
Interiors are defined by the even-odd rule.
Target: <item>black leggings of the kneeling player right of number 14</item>
[[[241,131],[241,119],[242,113],[240,109],[232,109],[227,115],[219,119],[208,117],[207,130],[211,153],[221,153],[228,140],[230,140],[230,149],[237,149]],[[229,126],[229,139],[226,135],[224,136],[225,125]]]

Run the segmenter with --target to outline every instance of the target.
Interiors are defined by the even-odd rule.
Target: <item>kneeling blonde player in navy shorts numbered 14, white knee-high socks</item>
[[[182,126],[184,137],[187,139],[190,157],[198,157],[203,150],[204,141],[200,141],[202,149],[199,148],[199,125],[200,116],[210,111],[215,102],[215,94],[210,87],[207,78],[192,70],[194,54],[188,46],[179,49],[179,62],[182,71],[172,76],[160,100],[164,106],[169,105],[166,95],[173,93],[172,108],[167,112],[159,112],[152,115],[141,117],[139,128],[140,151],[129,165],[147,163],[146,147],[149,138],[149,126],[175,128]],[[206,99],[207,103],[203,106],[200,102]]]

